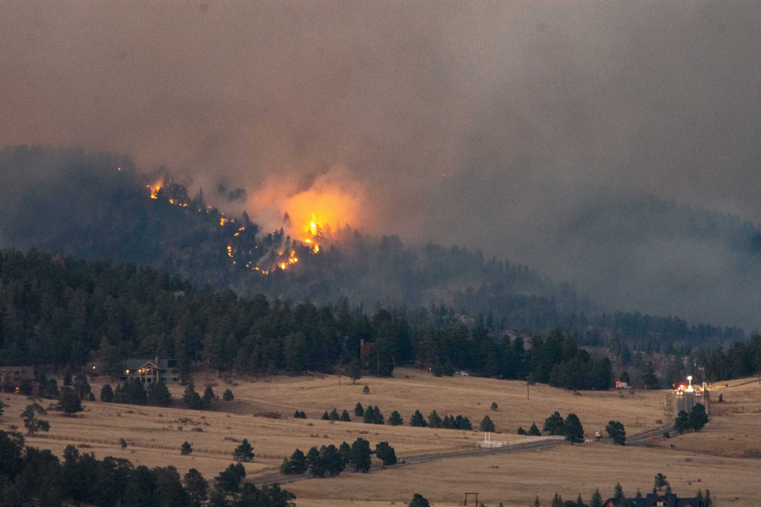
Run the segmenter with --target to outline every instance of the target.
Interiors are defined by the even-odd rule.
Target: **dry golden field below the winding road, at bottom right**
[[[556,491],[563,499],[574,500],[581,493],[587,502],[596,487],[603,496],[611,496],[619,481],[627,494],[633,495],[637,488],[648,493],[658,472],[666,475],[679,495],[691,496],[698,488],[708,488],[721,507],[757,507],[761,503],[758,460],[598,443],[441,460],[377,474],[304,480],[285,487],[299,499],[385,500],[399,505],[409,502],[412,493],[421,493],[435,505],[457,505],[463,493],[470,491],[478,492],[479,501],[489,507],[499,502],[530,507],[537,495],[542,505],[549,505]]]

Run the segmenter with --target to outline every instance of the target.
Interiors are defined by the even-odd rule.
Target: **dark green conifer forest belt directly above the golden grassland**
[[[425,307],[377,309],[370,316],[347,299],[317,306],[196,290],[167,271],[125,262],[36,250],[0,255],[0,364],[78,367],[100,358],[113,372],[125,357],[158,355],[176,357],[183,375],[199,368],[241,375],[359,375],[363,366],[390,375],[395,366],[416,362],[436,375],[470,369],[565,388],[606,389],[613,380],[607,356],[591,356],[573,334],[555,330],[527,340],[489,318],[470,325],[461,320]],[[373,344],[365,365],[359,362],[361,340]],[[706,365],[708,375],[731,378],[756,366],[759,344],[756,337],[727,353],[696,352],[693,358]],[[674,353],[671,344],[665,348]],[[636,382],[660,385],[649,353],[632,354],[626,344],[616,352]],[[675,368],[667,379],[681,373]]]

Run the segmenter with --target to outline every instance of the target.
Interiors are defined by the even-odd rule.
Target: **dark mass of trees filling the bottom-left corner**
[[[97,460],[67,445],[63,461],[49,450],[25,447],[19,433],[0,430],[0,486],[3,505],[26,507],[87,504],[95,507],[292,507],[292,493],[278,485],[258,489],[240,481],[243,465],[230,465],[213,486],[195,468],[181,477],[175,467],[135,467],[123,458]],[[211,494],[210,494],[211,493]]]

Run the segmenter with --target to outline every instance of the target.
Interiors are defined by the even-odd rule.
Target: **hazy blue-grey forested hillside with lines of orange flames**
[[[0,151],[0,174],[7,182],[0,189],[5,246],[131,261],[238,296],[425,306],[426,318],[438,325],[475,322],[495,331],[559,327],[581,344],[613,348],[626,343],[658,351],[743,338],[736,327],[611,311],[569,284],[486,258],[479,249],[409,246],[396,236],[375,238],[348,227],[320,231],[318,248],[282,229],[262,231],[246,214],[226,216],[202,192],[191,197],[165,171],[145,175],[126,157],[9,147]],[[223,190],[215,189],[216,201],[242,192]],[[726,228],[728,221],[721,223]]]

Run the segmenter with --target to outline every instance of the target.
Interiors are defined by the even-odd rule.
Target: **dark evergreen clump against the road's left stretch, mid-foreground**
[[[325,477],[340,474],[348,465],[357,472],[370,471],[372,455],[380,459],[384,467],[396,464],[396,452],[388,442],[378,442],[372,450],[370,442],[363,438],[356,439],[352,445],[343,442],[339,447],[323,445],[310,448],[307,455],[296,449],[291,458],[284,458],[280,466],[282,474],[305,474],[309,471],[312,477]]]

